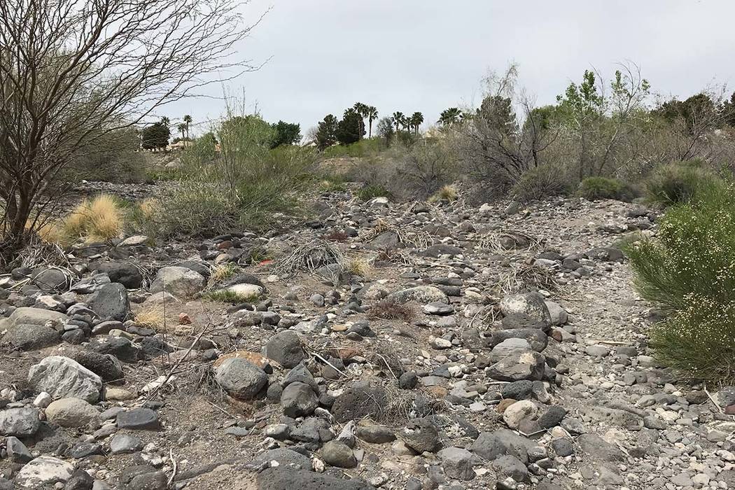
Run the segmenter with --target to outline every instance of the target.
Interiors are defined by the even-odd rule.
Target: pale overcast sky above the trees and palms
[[[733,0],[253,0],[245,21],[268,8],[239,46],[267,62],[227,90],[244,91],[248,109],[270,122],[301,123],[302,134],[356,101],[380,117],[423,112],[428,126],[442,109],[478,104],[483,76],[511,61],[538,104],[585,69],[609,75],[625,60],[667,95],[735,86]],[[223,93],[219,84],[208,90]],[[202,123],[223,107],[192,99],[165,112]]]

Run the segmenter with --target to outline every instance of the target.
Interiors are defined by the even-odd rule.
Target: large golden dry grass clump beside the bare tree
[[[123,231],[123,212],[111,195],[101,194],[85,199],[62,220],[67,239],[84,238],[87,242],[107,241],[120,237]]]

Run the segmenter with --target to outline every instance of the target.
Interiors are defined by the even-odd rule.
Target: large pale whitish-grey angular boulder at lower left
[[[81,398],[89,403],[99,400],[102,380],[82,364],[63,356],[49,356],[28,372],[28,383],[37,392],[47,392],[54,400]]]

